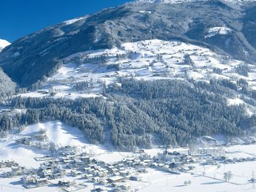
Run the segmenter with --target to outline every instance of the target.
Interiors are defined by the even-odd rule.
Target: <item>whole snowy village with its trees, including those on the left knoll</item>
[[[97,160],[91,154],[78,147],[59,147],[48,141],[45,131],[39,131],[32,137],[23,137],[15,140],[16,145],[37,147],[50,150],[49,155],[35,157],[39,168],[20,166],[12,160],[0,162],[0,177],[18,177],[19,185],[24,189],[55,186],[63,191],[136,191],[132,183],[150,183],[144,180],[143,174],[148,170],[165,172],[170,175],[198,174],[196,166],[216,166],[222,164],[238,164],[241,162],[256,161],[255,157],[230,158],[222,145],[214,144],[198,147],[190,144],[188,150],[182,153],[162,147],[157,155],[151,156],[146,150],[137,150],[133,157],[124,157],[121,161],[106,163]],[[225,173],[227,175],[227,173]],[[223,181],[229,182],[231,178],[223,175]],[[215,178],[213,178],[215,179]],[[255,183],[255,178],[248,178]],[[191,180],[184,185],[191,185]]]

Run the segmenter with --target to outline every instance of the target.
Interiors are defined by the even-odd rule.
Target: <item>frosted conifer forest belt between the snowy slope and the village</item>
[[[233,137],[256,125],[256,117],[249,117],[243,104],[227,105],[226,98],[236,96],[238,85],[246,93],[243,82],[123,79],[120,83],[107,88],[106,99],[15,97],[10,105],[26,112],[0,115],[1,137],[14,128],[61,120],[80,128],[90,142],[110,139],[118,150],[133,150],[151,147],[155,141],[184,146],[189,139],[204,135]]]

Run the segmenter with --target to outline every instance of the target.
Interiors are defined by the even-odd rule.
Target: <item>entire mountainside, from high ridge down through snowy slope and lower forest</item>
[[[1,135],[60,120],[121,150],[185,146],[205,135],[250,138],[255,2],[173,2],[105,9],[6,47],[0,82],[8,93],[1,94],[16,93],[2,103],[25,112],[0,112]],[[25,89],[15,90],[6,74]]]

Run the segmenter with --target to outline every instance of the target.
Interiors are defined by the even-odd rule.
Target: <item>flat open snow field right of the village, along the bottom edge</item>
[[[250,165],[247,164],[247,167]],[[236,165],[236,169],[239,165]],[[240,169],[244,166],[240,166]],[[223,174],[221,174],[221,180],[215,180],[213,177],[208,177],[208,174],[214,174],[218,170],[214,169],[206,170],[206,176],[201,174],[181,174],[181,175],[168,175],[163,172],[153,171],[151,172],[147,179],[151,182],[141,187],[140,191],[143,192],[153,192],[153,191],[177,191],[177,192],[233,192],[233,191],[255,191],[255,187],[252,183],[246,183],[245,185],[236,185],[232,183],[224,183],[222,181]],[[246,178],[244,178],[246,180]],[[184,185],[185,181],[191,181],[191,185]]]

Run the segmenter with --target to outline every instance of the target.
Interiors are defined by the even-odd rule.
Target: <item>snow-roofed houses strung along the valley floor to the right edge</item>
[[[43,133],[38,134],[37,139],[44,139]],[[23,138],[23,142],[26,138]],[[20,141],[20,140],[19,140]],[[49,185],[53,180],[59,188],[65,191],[72,185],[78,185],[67,180],[83,180],[83,188],[88,183],[95,186],[93,191],[130,191],[131,181],[142,181],[143,173],[148,172],[148,168],[157,169],[170,174],[181,174],[189,172],[195,168],[193,164],[219,165],[233,164],[243,161],[256,161],[256,158],[227,158],[226,155],[214,155],[216,151],[198,151],[198,153],[169,152],[167,149],[158,153],[154,157],[148,155],[144,150],[140,150],[135,158],[125,158],[114,164],[107,164],[91,158],[89,154],[79,152],[73,147],[63,147],[56,155],[48,155],[35,158],[42,161],[38,169],[26,169],[19,166],[15,161],[1,161],[1,168],[10,168],[11,171],[4,172],[2,177],[20,176],[20,182],[26,188],[37,188]],[[221,154],[221,153],[218,153]],[[64,180],[65,179],[65,180]]]

